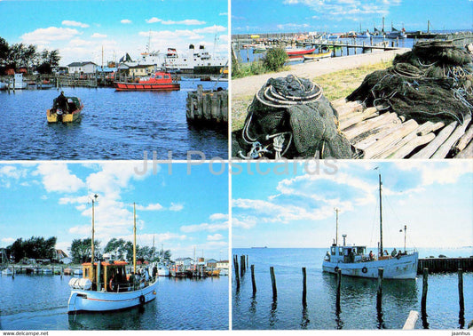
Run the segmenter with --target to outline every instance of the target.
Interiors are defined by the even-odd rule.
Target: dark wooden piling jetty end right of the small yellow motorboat
[[[196,124],[228,123],[228,91],[203,90],[189,92],[186,100],[187,121]]]

